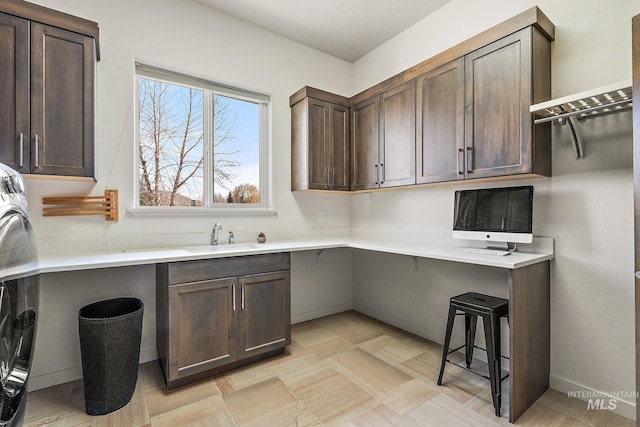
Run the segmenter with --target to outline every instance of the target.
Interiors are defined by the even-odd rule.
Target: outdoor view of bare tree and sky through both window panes
[[[249,131],[259,128],[257,104],[142,77],[138,94],[140,206],[204,206],[206,188],[210,204],[260,203],[250,172],[259,157],[257,132]]]

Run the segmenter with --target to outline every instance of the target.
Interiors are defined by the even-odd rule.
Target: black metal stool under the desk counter
[[[461,311],[462,313],[458,313]],[[464,315],[465,324],[465,343],[458,348],[449,350],[451,342],[451,332],[453,330],[453,322],[456,315]],[[476,326],[478,317],[482,317],[484,326],[484,336],[487,343],[487,364],[489,366],[489,377],[481,375],[471,370],[471,361],[473,359],[474,341],[476,338]],[[450,362],[447,357],[449,354],[465,348],[465,363],[467,370],[474,374],[487,378],[491,383],[491,397],[496,416],[500,416],[500,405],[502,404],[502,380],[508,377],[500,378],[502,375],[502,363],[500,355],[500,318],[509,319],[509,300],[503,298],[492,297],[489,295],[478,294],[475,292],[467,292],[462,295],[451,297],[449,303],[449,316],[447,319],[447,331],[444,337],[444,348],[442,350],[442,363],[440,365],[440,375],[438,376],[438,385],[442,385],[442,376],[444,375],[444,366],[446,362]],[[464,367],[460,366],[464,369]]]

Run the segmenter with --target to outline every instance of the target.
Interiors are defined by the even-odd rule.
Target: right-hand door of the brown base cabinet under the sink
[[[288,271],[240,279],[239,359],[284,348],[291,343]]]

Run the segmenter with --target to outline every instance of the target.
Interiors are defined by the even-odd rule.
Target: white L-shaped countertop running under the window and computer
[[[162,262],[189,261],[196,259],[223,258],[276,252],[296,252],[332,248],[353,248],[377,252],[432,258],[467,264],[517,269],[553,259],[553,239],[536,239],[532,252],[514,252],[507,256],[476,255],[463,252],[464,246],[444,243],[415,243],[392,240],[334,238],[290,240],[274,243],[237,243],[235,245],[201,245],[136,249],[118,252],[95,252],[83,254],[41,254],[40,273],[90,270],[96,268],[125,267],[156,264]],[[533,249],[535,248],[535,249]]]

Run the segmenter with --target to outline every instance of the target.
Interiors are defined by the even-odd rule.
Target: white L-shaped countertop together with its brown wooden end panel
[[[126,249],[91,254],[42,254],[40,273],[152,265],[282,252],[351,248],[472,264],[507,271],[509,304],[509,421],[514,422],[549,387],[550,261],[553,239],[536,238],[509,256],[463,252],[460,242],[432,244],[361,238],[290,240],[265,244],[195,245]],[[470,280],[473,280],[472,278]],[[444,332],[444,331],[443,331]]]

